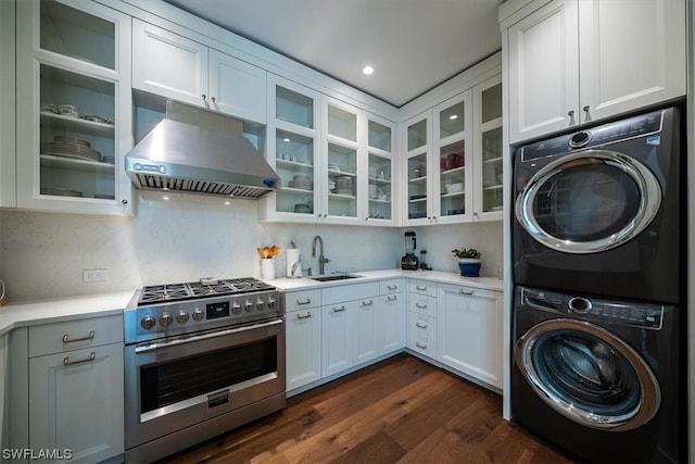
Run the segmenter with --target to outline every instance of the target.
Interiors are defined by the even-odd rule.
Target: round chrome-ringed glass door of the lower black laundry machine
[[[541,323],[519,339],[515,359],[536,394],[579,424],[630,430],[659,409],[659,385],[642,356],[593,324]]]

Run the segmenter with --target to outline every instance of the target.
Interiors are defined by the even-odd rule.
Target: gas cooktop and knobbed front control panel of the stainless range
[[[283,314],[282,292],[252,277],[147,286],[136,291],[125,310],[125,342],[236,326]]]

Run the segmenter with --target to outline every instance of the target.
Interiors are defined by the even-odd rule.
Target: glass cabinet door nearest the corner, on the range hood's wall
[[[367,116],[367,217],[368,224],[390,225],[393,201],[393,123]]]

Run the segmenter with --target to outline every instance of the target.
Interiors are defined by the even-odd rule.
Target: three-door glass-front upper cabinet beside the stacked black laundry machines
[[[402,147],[405,225],[502,220],[501,74],[407,120]]]

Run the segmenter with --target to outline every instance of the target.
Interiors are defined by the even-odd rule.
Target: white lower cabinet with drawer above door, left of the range
[[[56,462],[122,454],[122,316],[29,327],[28,338],[29,448],[53,453]],[[60,349],[46,352],[55,344]]]

